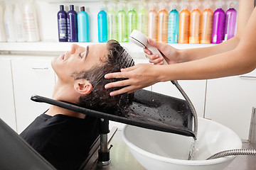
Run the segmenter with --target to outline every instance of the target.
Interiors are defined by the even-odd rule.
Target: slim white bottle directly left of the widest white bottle
[[[26,40],[26,35],[23,27],[21,8],[18,6],[18,4],[16,4],[14,9],[14,26],[16,30],[17,42],[24,42]]]

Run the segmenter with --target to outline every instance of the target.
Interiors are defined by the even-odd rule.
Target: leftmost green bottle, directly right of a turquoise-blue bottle
[[[110,8],[107,13],[107,39],[108,40],[118,40],[117,39],[117,14],[114,12],[114,7]]]

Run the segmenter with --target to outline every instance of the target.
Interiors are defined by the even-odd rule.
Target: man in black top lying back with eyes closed
[[[58,76],[53,99],[67,101],[97,111],[125,116],[133,94],[110,96],[105,84],[110,72],[131,67],[134,61],[118,42],[89,45],[73,44],[71,50],[52,60]],[[114,89],[115,90],[115,89]],[[97,118],[50,106],[48,111],[21,132],[26,142],[57,169],[79,169],[98,137]]]

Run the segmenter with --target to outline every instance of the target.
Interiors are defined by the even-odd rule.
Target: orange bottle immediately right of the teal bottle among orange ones
[[[190,13],[185,6],[180,13],[178,43],[188,43]]]

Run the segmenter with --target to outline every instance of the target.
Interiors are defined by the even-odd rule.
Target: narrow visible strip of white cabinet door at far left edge
[[[11,60],[0,59],[0,118],[16,131],[16,116],[14,108],[14,92],[11,77]]]

